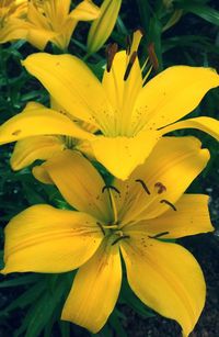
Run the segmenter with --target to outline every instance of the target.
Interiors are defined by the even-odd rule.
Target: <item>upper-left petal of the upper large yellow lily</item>
[[[28,56],[23,65],[73,116],[101,130],[108,127],[112,108],[97,78],[79,58],[38,53]]]

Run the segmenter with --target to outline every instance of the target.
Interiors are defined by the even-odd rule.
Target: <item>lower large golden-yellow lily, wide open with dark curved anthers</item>
[[[208,159],[196,138],[164,137],[127,181],[115,179],[106,187],[79,153],[59,153],[37,173],[78,211],[41,204],[13,217],[5,227],[1,272],[57,273],[80,267],[61,318],[96,333],[119,294],[120,252],[136,295],[177,321],[188,336],[204,307],[205,280],[186,249],[162,238],[212,231],[208,196],[183,195]]]

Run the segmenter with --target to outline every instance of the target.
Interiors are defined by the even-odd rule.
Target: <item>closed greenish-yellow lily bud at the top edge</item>
[[[99,19],[94,20],[91,25],[88,36],[88,52],[97,52],[111,35],[118,12],[122,0],[104,0],[101,5],[101,14]]]

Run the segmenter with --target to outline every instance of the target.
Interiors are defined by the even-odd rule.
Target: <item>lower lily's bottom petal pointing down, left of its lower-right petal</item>
[[[122,282],[118,245],[106,245],[104,241],[79,269],[61,314],[61,319],[83,326],[93,334],[104,326],[114,310]]]

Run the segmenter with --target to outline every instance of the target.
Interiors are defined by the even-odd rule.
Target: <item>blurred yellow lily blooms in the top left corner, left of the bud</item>
[[[43,50],[50,41],[66,49],[78,22],[100,15],[100,9],[91,0],[81,1],[72,11],[70,4],[70,0],[3,1],[0,11],[5,14],[0,43],[25,38]]]

